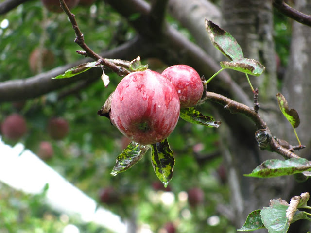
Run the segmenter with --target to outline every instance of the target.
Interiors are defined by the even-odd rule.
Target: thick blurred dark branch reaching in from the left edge
[[[105,51],[101,55],[107,58],[120,58],[131,60],[138,55],[147,56],[152,46],[140,37],[136,37],[112,50]],[[57,67],[50,71],[40,73],[34,77],[18,80],[0,82],[0,103],[7,101],[27,100],[64,88],[79,80],[86,80],[90,76],[101,78],[102,69],[92,68],[82,74],[68,79],[51,79],[66,70],[78,66],[79,64],[90,62],[89,58],[81,59],[75,63],[63,67]]]

